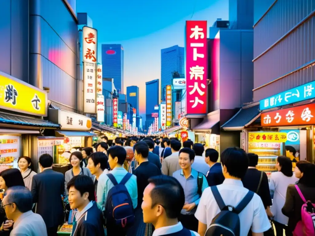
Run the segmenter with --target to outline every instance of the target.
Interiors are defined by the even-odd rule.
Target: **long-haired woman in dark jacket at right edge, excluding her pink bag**
[[[305,160],[298,161],[294,172],[295,177],[299,178],[299,182],[288,186],[285,203],[282,208],[282,213],[289,217],[288,228],[290,232],[301,231],[296,226],[301,221],[301,208],[305,202],[301,198],[298,189],[306,201],[315,203],[315,164]]]

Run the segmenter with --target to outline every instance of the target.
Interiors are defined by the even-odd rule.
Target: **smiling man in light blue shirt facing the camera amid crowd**
[[[192,169],[195,159],[195,152],[190,148],[183,148],[179,151],[180,170],[173,173],[185,193],[185,205],[180,212],[179,220],[182,225],[190,230],[198,230],[198,220],[194,214],[200,201],[201,193],[208,188],[208,182],[202,172]]]

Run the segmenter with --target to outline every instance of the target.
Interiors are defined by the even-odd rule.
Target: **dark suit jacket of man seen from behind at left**
[[[37,203],[36,213],[43,217],[47,228],[64,222],[64,208],[61,194],[65,191],[65,177],[62,173],[46,169],[34,175],[31,193]]]

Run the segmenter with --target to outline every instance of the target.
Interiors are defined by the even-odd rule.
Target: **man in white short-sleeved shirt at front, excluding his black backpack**
[[[243,149],[227,148],[221,155],[223,175],[225,180],[217,185],[218,191],[225,203],[236,207],[248,193],[241,181],[248,168],[248,157]],[[204,235],[212,219],[220,212],[211,188],[206,188],[201,196],[195,217],[199,221],[198,233]],[[246,236],[249,229],[253,236],[263,236],[271,228],[265,207],[261,198],[254,194],[249,204],[238,215],[240,219],[240,235]]]

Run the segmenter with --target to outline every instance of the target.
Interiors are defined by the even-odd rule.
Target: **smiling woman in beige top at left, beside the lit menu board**
[[[36,175],[36,172],[33,171],[31,158],[28,156],[20,156],[18,159],[18,166],[20,168],[25,187],[31,191],[33,176]]]

